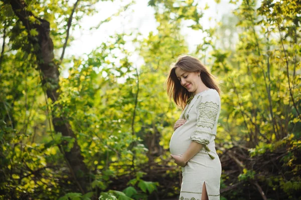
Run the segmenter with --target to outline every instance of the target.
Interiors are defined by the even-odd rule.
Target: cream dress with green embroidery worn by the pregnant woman
[[[209,200],[220,199],[222,167],[214,142],[220,105],[218,92],[208,89],[196,94],[180,116],[187,121],[173,133],[170,141],[171,153],[182,155],[192,140],[204,145],[182,167],[180,200],[201,200],[204,182]]]

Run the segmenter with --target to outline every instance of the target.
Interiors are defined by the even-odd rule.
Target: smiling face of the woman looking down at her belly
[[[202,82],[201,78],[198,76],[199,72],[186,72],[180,67],[177,67],[175,72],[183,87],[189,92],[193,92],[194,94],[197,93],[197,89]]]

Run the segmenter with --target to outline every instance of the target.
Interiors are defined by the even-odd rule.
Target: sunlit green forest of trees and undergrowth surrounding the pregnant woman
[[[300,199],[301,2],[209,2],[147,1],[143,32],[138,1],[0,0],[0,199],[177,199],[165,81],[181,54],[221,86],[221,199]],[[74,49],[84,19],[105,31]]]

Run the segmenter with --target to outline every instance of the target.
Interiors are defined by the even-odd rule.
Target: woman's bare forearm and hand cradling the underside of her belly
[[[201,149],[203,148],[203,144],[192,141],[188,147],[188,149],[183,153],[183,155],[172,155],[172,158],[175,159],[175,163],[179,166],[184,167],[187,162],[195,156]]]

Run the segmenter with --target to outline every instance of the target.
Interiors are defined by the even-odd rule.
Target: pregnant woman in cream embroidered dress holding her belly
[[[182,166],[180,200],[220,199],[221,162],[214,142],[220,89],[198,59],[180,56],[171,66],[167,92],[182,108],[170,141],[171,156]]]

